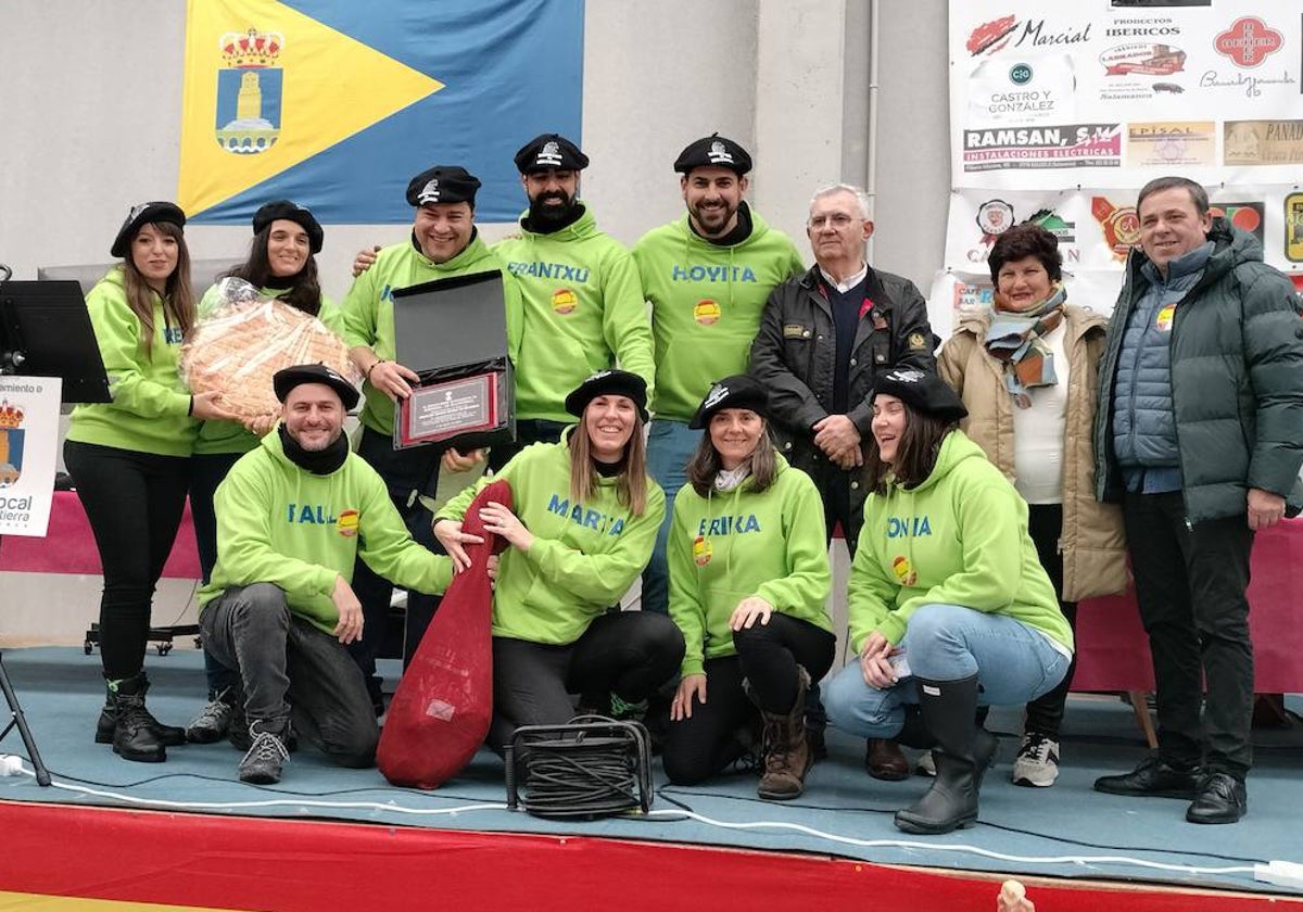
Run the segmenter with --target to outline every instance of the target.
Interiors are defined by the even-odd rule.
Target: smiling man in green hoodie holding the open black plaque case
[[[434,517],[421,496],[434,496],[440,459],[450,469],[469,468],[473,459],[434,446],[394,448],[394,404],[410,396],[413,384],[420,380],[410,365],[395,361],[394,291],[435,279],[503,271],[507,348],[512,361],[516,361],[521,327],[520,289],[480,240],[474,224],[478,189],[480,180],[456,165],[435,165],[413,177],[407,189],[407,201],[416,208],[410,240],[379,250],[374,264],[357,276],[341,305],[343,336],[351,345],[349,357],[366,378],[357,452],[384,479],[390,498],[413,537],[431,549],[438,547],[430,532]],[[371,701],[380,713],[383,696],[375,676],[375,658],[383,642],[394,586],[358,563],[353,589],[362,602],[366,628],[364,636],[351,645],[351,651],[367,675]],[[425,632],[437,605],[434,598],[408,594],[409,640],[418,640]]]

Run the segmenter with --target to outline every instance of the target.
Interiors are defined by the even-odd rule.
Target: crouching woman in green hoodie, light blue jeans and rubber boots
[[[850,586],[860,659],[825,698],[843,731],[936,748],[932,790],[895,816],[907,833],[950,833],[977,818],[995,753],[995,739],[973,722],[979,700],[1035,700],[1072,658],[1072,632],[1027,533],[1027,503],[959,430],[966,414],[933,374],[896,369],[874,384],[870,494]]]

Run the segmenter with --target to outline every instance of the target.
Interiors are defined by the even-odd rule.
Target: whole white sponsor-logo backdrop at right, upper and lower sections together
[[[990,245],[1027,219],[1058,236],[1074,276],[1115,274],[1139,240],[1136,194],[1165,175],[1207,186],[1303,285],[1303,10],[1286,7],[951,0],[959,297],[989,289]]]

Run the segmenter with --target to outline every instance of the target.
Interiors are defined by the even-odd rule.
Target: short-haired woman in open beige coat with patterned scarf
[[[1076,602],[1127,585],[1122,515],[1095,499],[1091,430],[1106,321],[1066,304],[1058,238],[1016,225],[988,258],[995,309],[962,311],[937,369],[968,409],[962,427],[1031,507],[1028,525],[1068,623]],[[1063,681],[1027,704],[1014,783],[1053,786]]]

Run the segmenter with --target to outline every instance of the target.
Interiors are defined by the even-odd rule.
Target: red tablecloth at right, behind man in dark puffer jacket
[[[1248,585],[1257,693],[1303,693],[1303,519],[1257,533]],[[1153,691],[1135,593],[1081,602],[1074,691]]]

